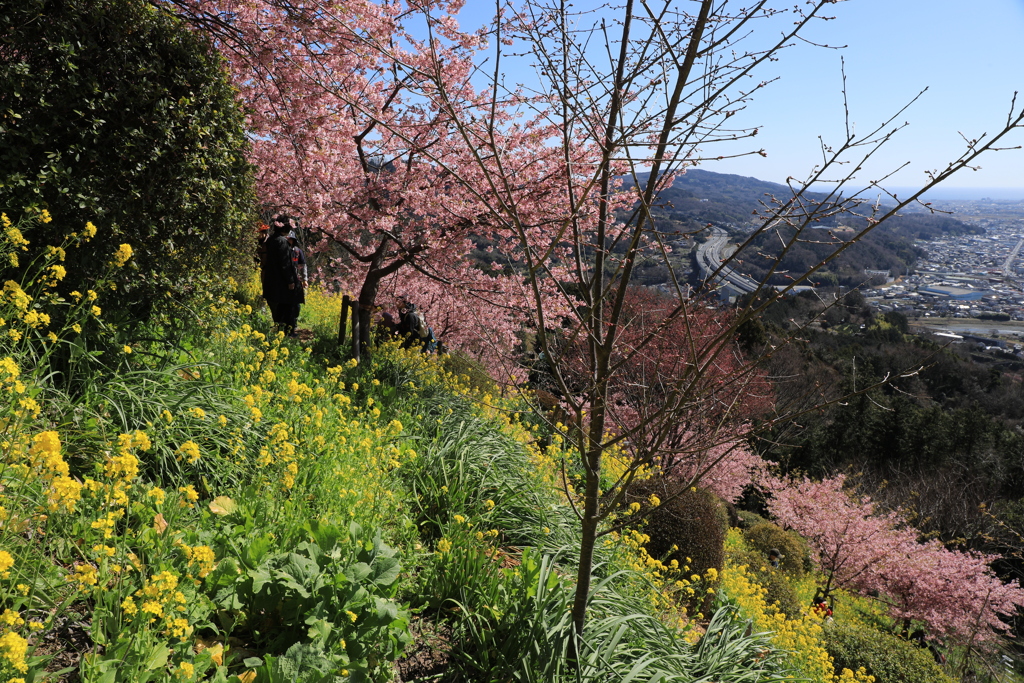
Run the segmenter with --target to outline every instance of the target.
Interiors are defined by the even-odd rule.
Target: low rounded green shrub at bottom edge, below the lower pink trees
[[[863,667],[874,683],[952,683],[931,652],[889,633],[831,624],[824,644],[837,674]]]

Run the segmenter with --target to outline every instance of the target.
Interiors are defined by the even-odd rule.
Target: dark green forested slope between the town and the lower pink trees
[[[899,313],[856,295],[822,310],[811,295],[764,318],[777,335],[820,321],[773,358],[779,405],[872,388],[774,431],[760,446],[784,471],[856,474],[860,486],[912,516],[923,533],[1021,562],[1024,391],[1021,362],[909,334]]]

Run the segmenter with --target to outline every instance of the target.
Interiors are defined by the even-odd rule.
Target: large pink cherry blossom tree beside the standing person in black
[[[522,290],[505,269],[467,258],[493,225],[480,203],[485,183],[467,182],[479,161],[473,140],[453,117],[482,112],[492,125],[508,122],[503,142],[522,159],[553,153],[538,148],[528,125],[509,122],[490,93],[473,89],[482,40],[459,30],[461,2],[154,3],[173,7],[224,54],[265,209],[300,216],[319,279],[356,293],[364,345],[379,298],[390,305],[409,296],[428,319],[444,321],[438,332],[450,344],[511,346],[522,319],[508,304]],[[458,93],[457,105],[437,105],[434,81]],[[543,174],[507,170],[526,211],[552,191]],[[471,323],[480,319],[489,324],[482,337]]]

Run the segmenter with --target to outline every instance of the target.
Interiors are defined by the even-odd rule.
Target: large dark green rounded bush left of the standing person
[[[53,218],[0,275],[87,221],[60,291],[90,289],[129,244],[109,318],[252,265],[244,117],[207,40],[143,0],[0,0],[0,209]]]

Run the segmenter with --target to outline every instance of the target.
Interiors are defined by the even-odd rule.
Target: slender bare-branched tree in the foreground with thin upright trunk
[[[771,256],[774,266],[755,283],[756,296],[706,324],[708,307],[717,307],[714,297],[688,292],[651,207],[676,174],[714,159],[703,150],[756,135],[754,129],[727,124],[760,87],[757,81],[750,89],[743,84],[830,4],[822,0],[783,12],[767,3],[736,7],[712,0],[685,6],[626,0],[580,10],[561,0],[499,2],[487,35],[488,88],[493,102],[511,109],[481,110],[473,104],[476,91],[453,84],[442,70],[422,62],[410,67],[430,81],[423,96],[473,150],[468,166],[446,168],[463,179],[485,208],[493,234],[514,254],[528,291],[512,305],[522,305],[522,315],[531,321],[536,348],[569,417],[563,436],[577,452],[584,479],[578,489],[582,542],[572,606],[578,634],[584,633],[596,542],[614,530],[609,517],[636,473],[665,459],[695,459],[703,463],[693,470],[695,482],[720,459],[709,454],[731,453],[748,433],[741,426],[744,401],[716,399],[742,396],[756,387],[758,368],[773,349],[766,346],[759,356],[737,359],[737,330],[1024,121],[1024,113],[1013,111],[998,134],[969,141],[962,158],[935,172],[920,191],[902,201],[893,197],[895,206],[885,209],[866,202],[860,191],[840,200],[840,190],[899,126],[887,121],[857,135],[848,128],[839,144],[823,146],[823,161],[806,182],[794,183],[792,194],[765,207],[748,244],[771,232],[780,247]],[[759,30],[774,19],[782,22],[779,33]],[[506,77],[524,71],[538,78]],[[509,145],[508,131],[525,130],[513,125],[510,111],[528,122],[529,139],[539,141],[528,147],[534,155],[524,158],[521,145]],[[433,162],[445,165],[437,155]],[[520,174],[552,183],[549,200],[518,201]],[[823,201],[812,200],[807,188],[815,182],[827,182],[835,190]],[[878,193],[877,183],[869,188]],[[767,286],[788,251],[819,239],[812,231],[815,224],[848,211],[866,217],[867,226],[852,241],[836,240],[831,254],[794,275],[791,286],[781,291]],[[629,302],[637,264],[650,257],[659,258],[671,273],[665,289],[672,302],[654,314],[655,324],[644,326]],[[732,276],[735,265],[726,258],[710,280]],[[658,365],[659,345],[671,344],[684,345],[686,352],[678,354],[677,364]],[[640,386],[632,393],[645,394],[646,405],[627,390],[630,373],[638,369]],[[706,419],[698,421],[702,414]],[[786,418],[762,420],[759,428]],[[608,485],[604,455],[623,449],[629,465]]]

